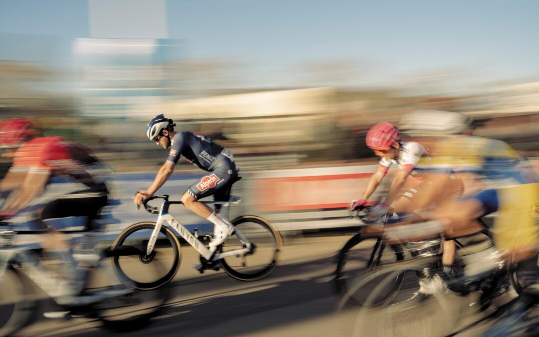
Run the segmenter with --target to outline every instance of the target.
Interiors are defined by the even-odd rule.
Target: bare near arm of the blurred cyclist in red
[[[44,170],[27,173],[22,185],[20,185],[15,195],[4,206],[2,212],[16,213],[26,207],[34,197],[42,194],[50,175],[50,171]]]

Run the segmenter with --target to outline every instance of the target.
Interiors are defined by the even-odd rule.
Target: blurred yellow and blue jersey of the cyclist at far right
[[[497,212],[492,231],[499,249],[530,251],[539,247],[539,178],[531,163],[506,142],[485,137],[452,136],[438,142],[426,169],[451,168],[473,174],[487,189],[472,196],[485,214]]]

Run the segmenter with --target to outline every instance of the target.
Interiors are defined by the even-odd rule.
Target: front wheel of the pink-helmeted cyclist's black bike
[[[356,234],[344,245],[338,254],[335,285],[341,295],[350,290],[351,283],[368,271],[374,271],[404,259],[402,246],[398,244],[386,245],[382,236]],[[385,280],[384,288],[378,287],[377,298],[371,298],[368,305],[378,306],[390,301],[399,291],[404,275],[396,274],[391,282]],[[376,287],[376,282],[371,284]],[[367,305],[366,299],[369,290],[364,285],[362,292],[349,294],[349,303],[354,305]]]

